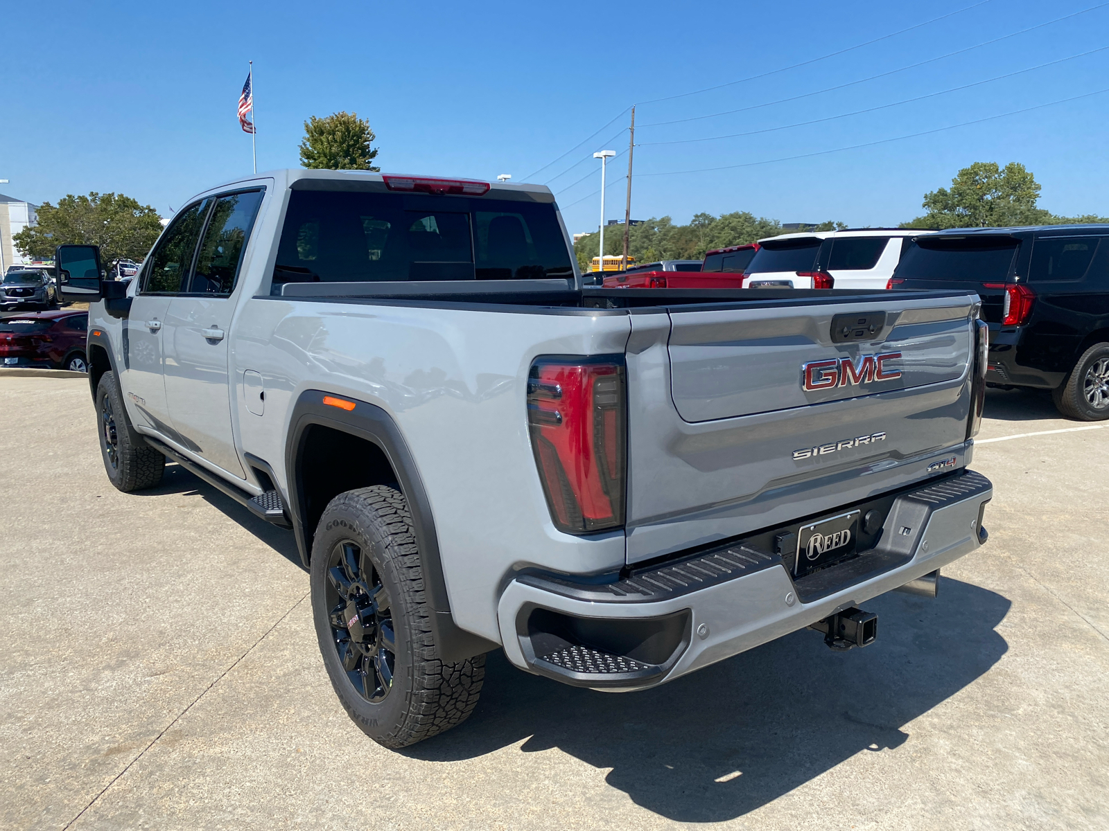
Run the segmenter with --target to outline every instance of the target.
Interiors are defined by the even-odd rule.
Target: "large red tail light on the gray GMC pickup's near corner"
[[[551,520],[588,534],[623,525],[627,393],[619,358],[540,358],[528,425]]]

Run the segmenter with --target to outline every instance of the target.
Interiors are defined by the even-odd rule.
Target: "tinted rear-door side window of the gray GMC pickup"
[[[187,294],[227,297],[235,288],[262,191],[220,196],[212,208]]]

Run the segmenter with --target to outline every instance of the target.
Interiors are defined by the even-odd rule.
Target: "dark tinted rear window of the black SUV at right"
[[[922,237],[902,254],[895,277],[907,280],[1004,283],[1020,247],[1014,237]]]

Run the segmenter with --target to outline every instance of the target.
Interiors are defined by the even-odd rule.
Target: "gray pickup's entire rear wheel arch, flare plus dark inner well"
[[[316,524],[327,503],[355,488],[395,484],[405,495],[416,531],[431,629],[442,660],[457,661],[497,644],[458,628],[442,575],[431,506],[399,428],[381,408],[338,396],[352,409],[325,404],[329,393],[305,390],[297,398],[285,443],[285,470],[293,533],[305,567]]]

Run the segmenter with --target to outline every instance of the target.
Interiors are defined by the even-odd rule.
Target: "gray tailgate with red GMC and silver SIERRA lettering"
[[[976,312],[968,295],[883,294],[635,316],[629,562],[964,464]]]

